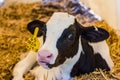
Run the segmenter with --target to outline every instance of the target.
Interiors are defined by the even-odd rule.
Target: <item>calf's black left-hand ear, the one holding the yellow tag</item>
[[[39,20],[34,20],[34,21],[31,21],[30,23],[28,23],[27,25],[27,29],[32,33],[34,34],[34,31],[35,31],[35,28],[38,27],[39,28],[39,31],[38,31],[38,34],[37,34],[37,37],[40,37],[42,36],[42,30],[43,28],[45,28],[45,22],[42,22],[42,21],[39,21]]]

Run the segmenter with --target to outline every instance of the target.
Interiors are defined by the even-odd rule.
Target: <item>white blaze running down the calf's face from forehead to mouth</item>
[[[58,56],[57,40],[62,35],[63,31],[70,25],[74,24],[75,17],[68,13],[56,12],[46,23],[46,40],[41,50],[47,50],[53,54],[53,60],[50,64],[54,64]]]

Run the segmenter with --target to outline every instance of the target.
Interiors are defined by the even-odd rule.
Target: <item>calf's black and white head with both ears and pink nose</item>
[[[27,28],[33,34],[36,27],[40,28],[37,36],[43,36],[43,46],[38,51],[37,59],[45,68],[57,67],[67,59],[76,58],[74,56],[81,52],[78,50],[82,50],[79,46],[81,38],[99,42],[109,36],[104,29],[93,26],[85,28],[74,16],[62,12],[54,13],[47,23],[34,20]]]

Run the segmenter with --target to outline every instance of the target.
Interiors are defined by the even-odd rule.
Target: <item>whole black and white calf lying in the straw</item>
[[[37,61],[38,68],[33,71],[37,80],[72,80],[72,77],[92,72],[95,68],[111,70],[113,62],[105,39],[107,31],[96,27],[83,27],[74,16],[56,12],[47,23],[39,20],[28,24],[33,34],[39,27],[38,39],[43,46],[38,54],[30,51],[28,56],[14,68],[13,80],[22,80],[23,75]]]

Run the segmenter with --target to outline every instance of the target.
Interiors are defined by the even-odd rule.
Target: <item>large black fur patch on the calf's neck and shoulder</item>
[[[100,54],[94,54],[93,48],[88,44],[87,40],[81,39],[83,51],[79,60],[74,65],[71,71],[71,77],[79,76],[80,74],[90,73],[95,68],[110,70],[106,61]]]

